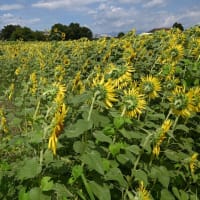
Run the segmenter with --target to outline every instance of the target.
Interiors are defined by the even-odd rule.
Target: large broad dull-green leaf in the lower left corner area
[[[37,158],[26,159],[24,165],[18,169],[18,179],[29,179],[36,177],[42,171]]]

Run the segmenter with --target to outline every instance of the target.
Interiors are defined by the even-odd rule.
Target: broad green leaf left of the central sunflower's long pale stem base
[[[68,138],[79,137],[85,131],[90,130],[92,126],[93,123],[91,121],[79,119],[69,129],[65,130],[65,134],[67,135]]]

